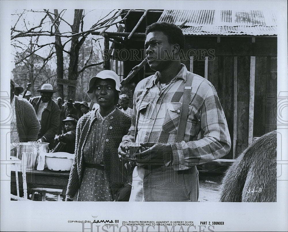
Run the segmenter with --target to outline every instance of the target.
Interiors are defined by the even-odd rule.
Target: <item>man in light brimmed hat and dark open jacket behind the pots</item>
[[[41,96],[33,97],[30,103],[35,109],[41,128],[38,134],[39,142],[49,143],[49,149],[54,146],[54,137],[57,134],[60,120],[60,109],[52,100],[53,90],[51,84],[43,84],[41,89],[37,89]]]

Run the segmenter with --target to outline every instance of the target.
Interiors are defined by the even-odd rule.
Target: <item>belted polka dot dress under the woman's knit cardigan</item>
[[[109,129],[110,115],[114,111],[104,118],[99,113],[99,110],[96,111],[97,120],[92,125],[91,132],[83,149],[85,163],[104,164],[104,139]],[[77,201],[113,201],[108,186],[109,183],[104,170],[86,167]]]

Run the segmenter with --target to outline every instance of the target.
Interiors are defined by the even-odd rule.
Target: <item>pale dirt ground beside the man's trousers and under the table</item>
[[[199,172],[199,198],[198,202],[219,202],[219,187],[221,184],[222,174]],[[35,194],[34,201],[41,201]],[[57,201],[56,195],[46,195],[46,201]],[[62,201],[62,197],[61,197]]]

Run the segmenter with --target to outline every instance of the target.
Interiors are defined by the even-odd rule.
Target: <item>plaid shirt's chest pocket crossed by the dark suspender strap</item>
[[[170,134],[177,134],[178,131],[178,124],[180,120],[180,114],[181,114],[181,107],[182,103],[169,103],[168,109],[166,111],[166,115],[164,118],[164,122],[162,125],[162,130],[165,133],[170,133]],[[188,109],[188,115],[187,115],[187,124],[186,124],[186,132],[185,134],[188,133],[189,137],[194,137],[195,135],[198,134],[198,130],[200,127],[200,119],[199,115],[196,113],[196,110],[194,107],[189,106]],[[187,131],[188,129],[188,131]]]

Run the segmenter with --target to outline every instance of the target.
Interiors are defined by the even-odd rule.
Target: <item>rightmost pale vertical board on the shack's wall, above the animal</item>
[[[253,140],[253,120],[254,120],[254,95],[255,95],[255,56],[250,59],[250,90],[249,90],[249,129],[248,139],[249,144]]]

